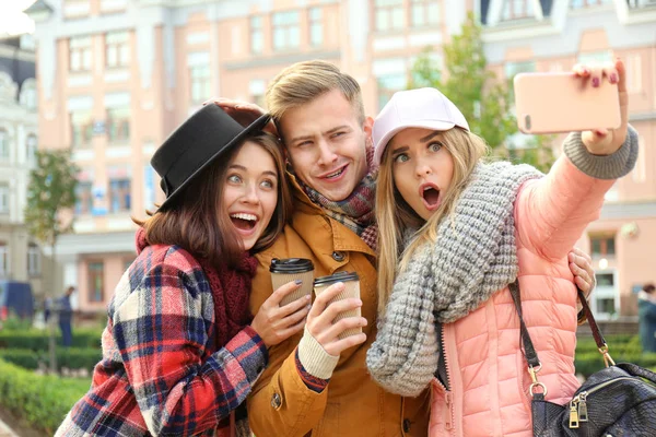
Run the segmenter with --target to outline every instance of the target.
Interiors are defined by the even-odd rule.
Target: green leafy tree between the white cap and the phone
[[[454,35],[444,50],[445,71],[426,48],[412,67],[409,88],[433,86],[457,107],[473,133],[490,145],[492,156],[531,164],[548,172],[554,156],[551,135],[522,135],[513,114],[512,79],[497,80],[488,70],[481,25],[469,13],[459,35]]]

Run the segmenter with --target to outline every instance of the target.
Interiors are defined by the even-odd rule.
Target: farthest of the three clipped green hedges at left
[[[73,347],[101,349],[101,334],[98,329],[73,328]],[[30,349],[33,351],[47,351],[49,341],[48,330],[0,330],[1,349]],[[57,344],[61,344],[61,335],[57,329]]]

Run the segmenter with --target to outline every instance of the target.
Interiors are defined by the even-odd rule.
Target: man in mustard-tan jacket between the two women
[[[246,103],[215,102],[245,117],[261,113]],[[364,115],[360,86],[329,62],[300,62],[271,82],[267,106],[285,144],[295,212],[284,234],[258,255],[251,311],[273,292],[273,258],[311,259],[315,277],[356,272],[360,299],[328,305],[343,285],[328,287],[314,299],[305,331],[269,350],[269,366],[248,399],[250,427],[258,437],[424,437],[430,392],[418,398],[386,392],[365,365],[376,336],[375,169],[373,120]],[[584,269],[572,270],[589,290],[589,261],[577,253],[571,259]],[[332,323],[339,312],[356,307],[362,317]],[[339,340],[353,327],[362,333]]]

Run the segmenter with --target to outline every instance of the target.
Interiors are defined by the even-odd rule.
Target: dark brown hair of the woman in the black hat
[[[284,173],[284,157],[276,137],[257,132],[196,176],[164,211],[147,211],[144,221],[132,218],[145,231],[151,245],[176,245],[196,257],[213,264],[226,262],[235,267],[242,259],[244,247],[221,201],[230,162],[246,141],[265,149],[273,158],[278,172],[278,204],[256,245],[258,252],[271,246],[292,215],[292,196]]]

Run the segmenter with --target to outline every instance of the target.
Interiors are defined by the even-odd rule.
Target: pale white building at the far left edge
[[[36,104],[31,37],[0,39],[0,280],[30,282],[39,299],[46,267],[24,218],[38,144]]]

